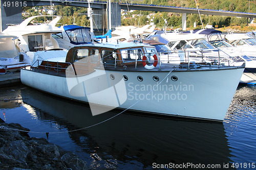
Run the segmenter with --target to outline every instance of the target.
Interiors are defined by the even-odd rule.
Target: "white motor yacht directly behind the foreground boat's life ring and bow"
[[[165,43],[172,51],[180,52],[180,56],[190,57],[190,61],[215,63],[229,63],[232,61],[229,55],[212,46],[203,35],[156,31],[145,39]],[[187,53],[185,54],[183,51]]]

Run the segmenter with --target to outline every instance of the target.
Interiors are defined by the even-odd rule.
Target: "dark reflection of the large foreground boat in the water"
[[[26,104],[40,110],[36,111],[39,119],[56,121],[59,127],[69,131],[97,124],[117,114],[106,112],[92,116],[89,106],[60,101],[29,88],[21,92]],[[107,153],[120,161],[137,160],[144,167],[154,162],[220,164],[222,167],[231,161],[222,123],[186,122],[125,112],[100,125],[69,132],[69,136],[81,147],[81,152]],[[84,136],[90,141],[81,140]],[[54,134],[49,136],[54,137]]]

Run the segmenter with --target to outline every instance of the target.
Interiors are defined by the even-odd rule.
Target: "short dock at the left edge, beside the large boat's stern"
[[[6,87],[14,84],[19,84],[20,72],[8,73],[0,75],[0,87]]]

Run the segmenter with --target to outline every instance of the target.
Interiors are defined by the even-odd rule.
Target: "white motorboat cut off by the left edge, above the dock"
[[[0,74],[19,71],[21,67],[31,64],[27,54],[20,52],[16,46],[16,38],[14,35],[0,33]]]

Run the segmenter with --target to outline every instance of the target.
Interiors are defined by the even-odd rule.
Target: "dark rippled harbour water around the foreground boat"
[[[127,112],[103,124],[67,132],[99,123],[118,112],[92,116],[88,106],[55,99],[22,85],[0,88],[0,100],[0,117],[7,123],[41,132],[29,133],[31,137],[46,138],[45,132],[62,132],[50,133],[49,142],[84,160],[98,160],[99,168],[105,168],[108,162],[113,165],[108,167],[116,169],[164,165],[171,169],[178,165],[183,169],[204,165],[205,169],[256,169],[255,86],[238,87],[222,124]]]

